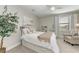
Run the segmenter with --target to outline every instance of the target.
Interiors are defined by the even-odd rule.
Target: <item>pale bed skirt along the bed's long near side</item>
[[[38,45],[35,45],[35,44],[32,44],[32,43],[29,43],[25,40],[22,40],[22,45],[25,46],[25,47],[28,47],[38,53],[53,53],[53,51],[51,49],[48,49],[48,48],[44,48],[42,46],[38,46]]]

